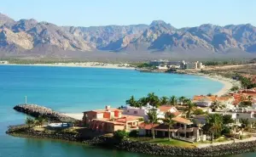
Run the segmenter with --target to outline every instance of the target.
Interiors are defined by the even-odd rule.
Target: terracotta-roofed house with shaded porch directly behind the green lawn
[[[181,139],[183,141],[195,142],[195,141],[205,141],[206,136],[202,135],[201,129],[193,125],[192,121],[182,117],[172,118],[176,123],[170,129],[171,136],[176,139]],[[165,124],[145,124],[142,123],[139,126],[140,136],[151,136],[152,127],[154,127],[154,134],[156,137],[168,137],[168,126]]]

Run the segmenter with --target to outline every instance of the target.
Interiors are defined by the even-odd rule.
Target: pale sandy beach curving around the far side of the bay
[[[102,69],[117,69],[117,70],[136,70],[136,67],[131,67],[131,64],[105,64],[100,62],[84,62],[84,63],[55,63],[55,64],[0,64],[0,65],[17,65],[17,66],[49,66],[49,67],[79,67],[79,68],[102,68]],[[159,71],[163,72],[163,71]],[[182,71],[182,74],[201,76],[212,81],[218,81],[223,84],[217,93],[212,93],[213,95],[222,96],[230,92],[230,88],[233,86],[241,87],[240,81],[235,81],[224,76],[212,76],[207,74],[202,74],[200,72],[188,72]],[[173,73],[180,74],[180,73]]]

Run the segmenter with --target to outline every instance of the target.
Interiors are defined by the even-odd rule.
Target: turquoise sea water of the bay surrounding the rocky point
[[[0,65],[0,157],[148,157],[119,150],[99,149],[80,143],[26,139],[5,134],[25,115],[15,104],[40,104],[60,112],[78,113],[125,105],[125,99],[154,92],[159,96],[216,93],[218,81],[199,76],[141,73],[136,70]],[[256,154],[241,154],[254,157]]]

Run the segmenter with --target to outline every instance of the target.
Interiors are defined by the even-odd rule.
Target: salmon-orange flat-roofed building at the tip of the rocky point
[[[118,130],[138,129],[139,119],[143,118],[134,115],[122,115],[122,110],[111,109],[106,106],[105,109],[90,110],[84,112],[83,122],[89,128],[97,132],[113,133]]]

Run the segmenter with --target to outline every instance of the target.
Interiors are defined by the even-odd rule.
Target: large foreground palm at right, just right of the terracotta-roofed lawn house
[[[207,116],[207,124],[210,126],[212,132],[212,143],[214,138],[214,133],[222,130],[223,118],[222,115],[211,114]]]

